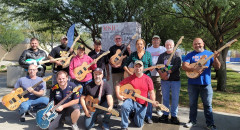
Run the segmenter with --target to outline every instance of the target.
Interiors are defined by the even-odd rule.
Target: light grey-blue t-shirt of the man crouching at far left
[[[28,89],[29,87],[33,87],[35,84],[37,84],[38,82],[42,81],[41,77],[37,77],[36,79],[31,79],[29,76],[26,77],[22,77],[20,79],[18,79],[18,81],[16,82],[16,84],[14,85],[14,88],[23,88],[23,91],[25,91],[26,89]],[[42,82],[40,85],[38,85],[35,89],[35,91],[40,91],[40,90],[46,90],[46,82]],[[31,100],[37,99],[38,97],[32,93],[27,93],[26,95],[24,95],[24,97],[28,97]]]

